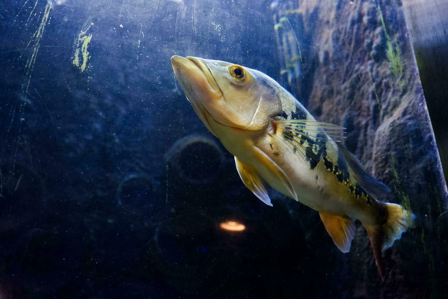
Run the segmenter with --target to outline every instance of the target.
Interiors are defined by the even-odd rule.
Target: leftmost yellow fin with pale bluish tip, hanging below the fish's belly
[[[249,164],[243,163],[235,157],[235,164],[237,165],[237,171],[241,180],[249,188],[250,191],[263,201],[263,203],[272,207],[271,199],[267,194],[266,188],[263,186],[257,170]]]

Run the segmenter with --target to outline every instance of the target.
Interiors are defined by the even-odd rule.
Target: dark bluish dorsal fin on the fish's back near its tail
[[[371,195],[375,199],[378,199],[379,197],[391,191],[391,189],[387,185],[379,182],[375,178],[371,177],[368,173],[366,173],[358,158],[355,157],[346,147],[344,147],[340,143],[336,144],[340,152],[344,156],[345,161],[347,162],[350,173],[352,173],[353,177],[356,179],[359,185],[361,185],[362,188],[367,193],[369,193],[369,195]]]

